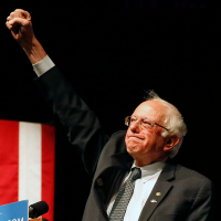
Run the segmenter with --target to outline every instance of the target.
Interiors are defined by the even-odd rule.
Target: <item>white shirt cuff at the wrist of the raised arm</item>
[[[40,62],[33,64],[34,72],[36,73],[38,76],[41,76],[53,66],[55,66],[55,64],[52,62],[52,60],[48,55]]]

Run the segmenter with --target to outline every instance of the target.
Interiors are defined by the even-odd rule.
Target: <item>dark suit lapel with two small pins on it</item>
[[[175,177],[175,166],[167,164],[162,169],[149,198],[147,199],[139,221],[148,220],[159,203],[164,200],[165,196],[171,189],[172,185],[168,181]]]

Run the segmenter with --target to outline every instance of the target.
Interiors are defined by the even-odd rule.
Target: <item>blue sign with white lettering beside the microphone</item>
[[[0,206],[0,221],[28,221],[28,200]]]

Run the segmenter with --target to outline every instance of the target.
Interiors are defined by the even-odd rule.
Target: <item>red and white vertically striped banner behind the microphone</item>
[[[0,204],[44,200],[54,215],[55,128],[0,119]]]

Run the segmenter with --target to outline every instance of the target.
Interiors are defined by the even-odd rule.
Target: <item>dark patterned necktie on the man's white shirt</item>
[[[131,198],[135,188],[136,179],[141,177],[140,168],[133,168],[129,178],[126,182],[119,188],[115,202],[113,204],[109,220],[110,221],[123,221],[125,212],[127,210],[127,206]]]

